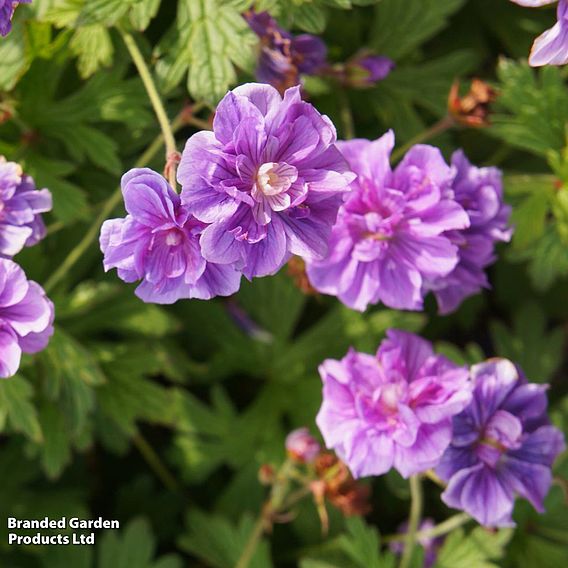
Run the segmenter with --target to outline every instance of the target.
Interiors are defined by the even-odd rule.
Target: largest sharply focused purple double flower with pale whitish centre
[[[211,223],[201,237],[205,259],[250,279],[274,274],[292,254],[325,257],[354,177],[331,121],[299,87],[282,98],[253,83],[227,93],[213,130],[187,141],[178,169],[182,202]]]

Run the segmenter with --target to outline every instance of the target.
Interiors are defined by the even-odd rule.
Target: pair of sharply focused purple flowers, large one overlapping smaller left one
[[[327,117],[270,85],[229,92],[213,132],[187,142],[181,195],[147,169],[122,179],[128,216],[106,221],[106,270],[142,280],[147,302],[209,299],[277,272],[292,255],[322,259],[343,194],[355,175],[337,149]]]

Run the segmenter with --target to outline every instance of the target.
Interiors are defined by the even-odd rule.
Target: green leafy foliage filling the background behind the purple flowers
[[[55,202],[48,238],[17,258],[30,278],[50,287],[77,243],[98,231],[104,205],[115,204],[120,175],[159,134],[117,26],[133,30],[151,61],[169,116],[193,101],[207,120],[228,88],[252,79],[256,40],[239,15],[250,4],[34,0],[18,8],[14,30],[0,41],[0,105],[11,114],[0,125],[0,154],[20,161]],[[228,301],[163,308],[104,275],[96,241],[87,242],[49,290],[57,310],[49,348],[0,384],[1,517],[100,515],[124,528],[101,535],[95,548],[8,547],[2,520],[2,566],[231,568],[263,500],[259,466],[282,462],[293,427],[315,433],[317,365],[349,345],[373,351],[389,327],[420,331],[459,361],[514,359],[532,381],[552,384],[554,419],[568,432],[567,73],[534,72],[524,62],[553,11],[506,0],[256,5],[288,27],[322,34],[334,61],[362,47],[396,61],[386,81],[347,93],[358,136],[393,128],[399,144],[408,142],[445,115],[455,78],[478,76],[499,89],[491,127],[433,140],[446,156],[463,147],[474,163],[505,171],[517,230],[491,269],[494,288],[450,317],[438,317],[433,303],[424,314],[382,307],[358,314],[303,295],[283,270],[244,283]],[[337,90],[314,78],[306,89],[341,136]],[[194,130],[182,125],[180,147]],[[160,171],[162,152],[145,165]],[[239,313],[255,325],[243,325]],[[160,479],[164,464],[171,475]],[[566,478],[568,460],[557,475]],[[393,566],[379,552],[379,533],[405,520],[406,484],[389,474],[372,485],[366,519],[331,511],[322,538],[306,502],[291,523],[276,526],[253,566]],[[450,511],[438,494],[427,486],[427,511],[443,520]],[[564,500],[555,487],[540,517],[519,503],[513,535],[460,529],[436,566],[568,565]]]

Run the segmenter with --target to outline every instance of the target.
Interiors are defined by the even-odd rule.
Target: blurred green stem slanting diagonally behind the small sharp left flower
[[[183,118],[183,111],[172,123],[172,130],[179,130],[185,124]],[[140,156],[140,159],[134,164],[135,168],[140,168],[147,165],[154,156],[158,153],[163,145],[163,135],[159,135],[154,142],[148,147],[148,149]],[[118,206],[120,200],[122,199],[122,192],[120,187],[112,193],[112,195],[104,203],[100,213],[96,217],[95,221],[85,233],[85,236],[79,241],[77,246],[71,250],[67,258],[61,263],[59,268],[47,279],[44,284],[44,290],[49,293],[53,288],[59,284],[61,279],[67,274],[67,272],[77,263],[77,261],[85,254],[87,249],[91,246],[93,241],[96,240],[101,225],[108,218],[108,216],[113,212],[115,207]]]

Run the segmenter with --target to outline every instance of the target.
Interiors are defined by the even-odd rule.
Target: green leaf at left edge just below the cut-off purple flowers
[[[12,430],[39,444],[42,432],[32,403],[33,394],[33,387],[22,375],[0,381],[0,430],[7,421]]]

